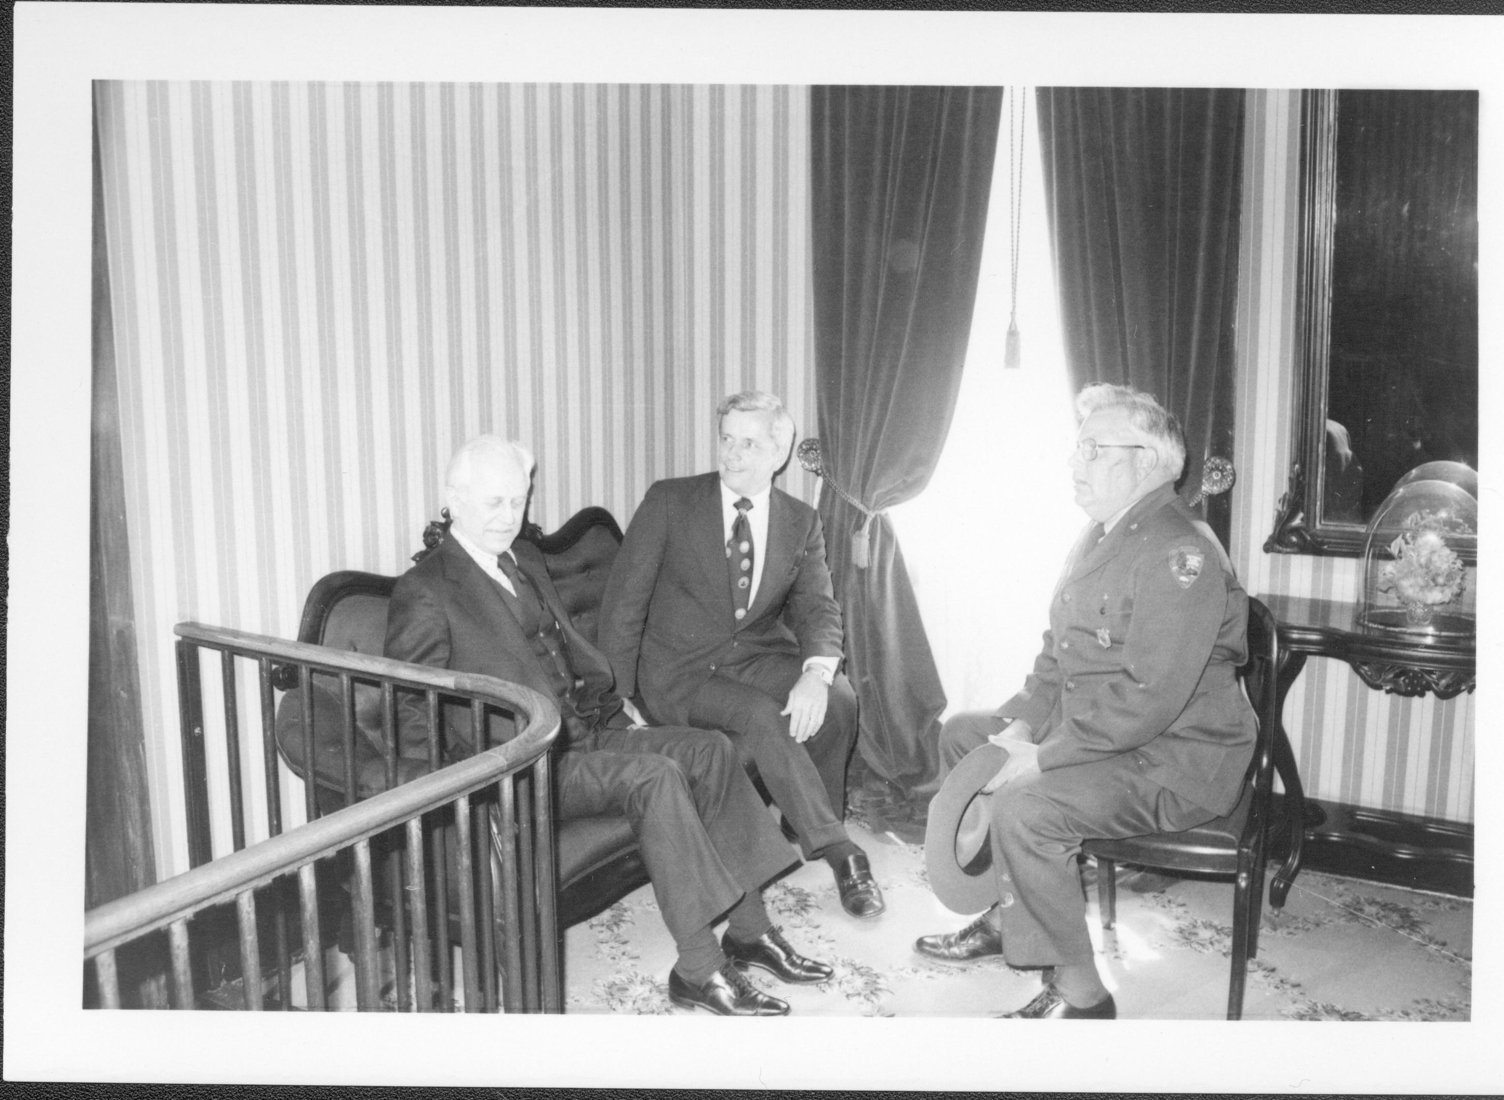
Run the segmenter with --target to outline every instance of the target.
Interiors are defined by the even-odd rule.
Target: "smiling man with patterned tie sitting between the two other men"
[[[660,722],[725,730],[806,859],[835,873],[853,916],[883,912],[847,835],[856,694],[841,674],[841,608],[820,515],[773,488],[794,421],[770,393],[716,411],[720,469],[657,482],[606,582],[600,649],[623,695]]]

